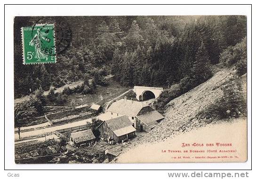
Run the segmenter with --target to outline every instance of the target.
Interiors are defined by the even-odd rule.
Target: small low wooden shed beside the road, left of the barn
[[[91,129],[73,132],[69,135],[69,139],[74,143],[75,146],[80,147],[81,145],[94,142],[96,137]]]

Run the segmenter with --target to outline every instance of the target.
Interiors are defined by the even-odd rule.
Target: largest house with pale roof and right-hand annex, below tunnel
[[[113,117],[127,115],[137,131],[149,132],[158,122],[164,119],[151,106],[139,101],[128,100],[126,97],[111,104],[107,109]]]

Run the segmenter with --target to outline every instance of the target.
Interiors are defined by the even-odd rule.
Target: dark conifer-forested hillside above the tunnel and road
[[[72,30],[72,42],[56,64],[22,64],[20,28],[38,19],[65,22]],[[246,73],[246,59],[240,60],[241,51],[246,55],[245,16],[16,17],[15,22],[15,97],[84,78],[101,83],[108,74],[126,86],[184,83],[186,91],[212,76],[210,66],[220,57],[225,66],[240,64],[240,75]]]

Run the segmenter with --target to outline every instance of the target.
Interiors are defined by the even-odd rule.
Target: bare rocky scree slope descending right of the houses
[[[179,133],[195,130],[210,123],[211,119],[198,119],[196,115],[222,98],[225,85],[234,80],[235,76],[233,71],[219,71],[208,81],[171,100],[167,104],[165,119],[134,145],[165,141]]]

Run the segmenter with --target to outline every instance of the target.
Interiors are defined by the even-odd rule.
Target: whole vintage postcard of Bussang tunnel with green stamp
[[[16,164],[246,162],[247,17],[16,16]]]

